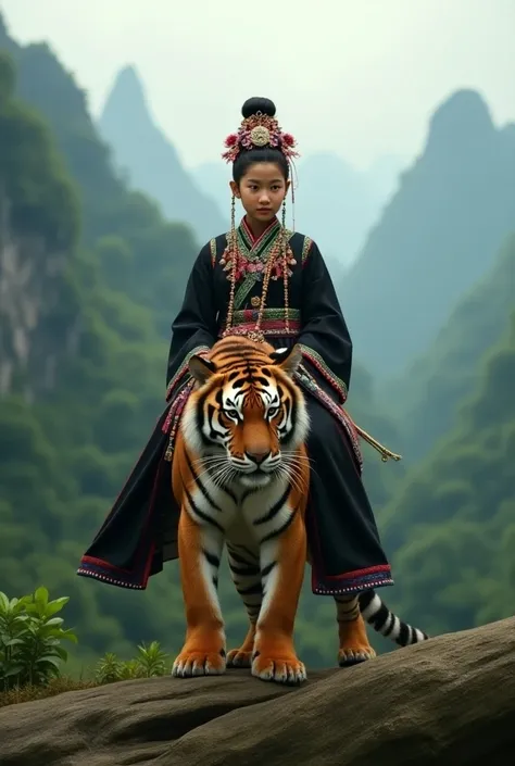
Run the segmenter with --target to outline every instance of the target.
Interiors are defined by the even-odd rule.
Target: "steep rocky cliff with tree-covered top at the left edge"
[[[77,331],[68,278],[77,199],[47,126],[17,102],[0,55],[0,394],[52,389]]]

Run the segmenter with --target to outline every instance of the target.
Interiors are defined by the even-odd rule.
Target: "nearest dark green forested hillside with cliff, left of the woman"
[[[65,592],[83,651],[123,649],[124,595],[75,570],[162,407],[167,344],[80,246],[79,196],[48,125],[13,98],[13,68],[2,54],[1,590]]]

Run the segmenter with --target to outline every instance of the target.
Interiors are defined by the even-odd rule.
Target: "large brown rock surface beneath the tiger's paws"
[[[515,618],[300,688],[247,671],[0,710],[2,766],[491,766],[515,746]]]

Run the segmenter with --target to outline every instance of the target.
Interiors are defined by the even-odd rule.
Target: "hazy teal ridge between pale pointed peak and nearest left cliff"
[[[11,53],[17,96],[45,115],[77,184],[83,243],[102,251],[100,268],[108,284],[150,309],[167,340],[199,248],[193,233],[185,224],[166,222],[154,201],[115,173],[84,91],[46,43],[18,46],[2,23],[0,50]]]

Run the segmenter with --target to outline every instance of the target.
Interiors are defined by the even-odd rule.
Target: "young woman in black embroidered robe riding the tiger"
[[[316,243],[285,227],[296,142],[281,131],[269,100],[248,100],[242,114],[223,155],[233,163],[231,230],[205,244],[193,264],[172,326],[166,407],[78,574],[142,589],[163,562],[177,557],[169,467],[193,384],[188,361],[224,335],[246,334],[275,348],[302,349],[298,382],[311,416],[313,592],[338,598],[392,585],[361,480],[357,434],[343,410],[352,342]],[[246,211],[238,227],[236,198]]]

